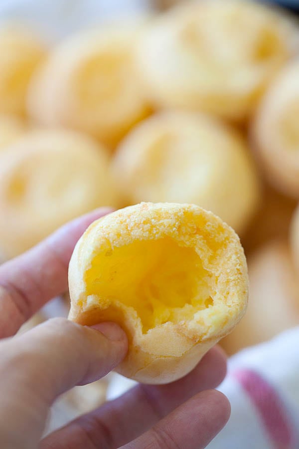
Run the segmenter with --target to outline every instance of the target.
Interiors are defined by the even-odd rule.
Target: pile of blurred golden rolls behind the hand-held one
[[[53,47],[0,27],[0,255],[101,206],[201,206],[248,256],[232,354],[299,324],[299,26],[253,1],[162,3]]]

